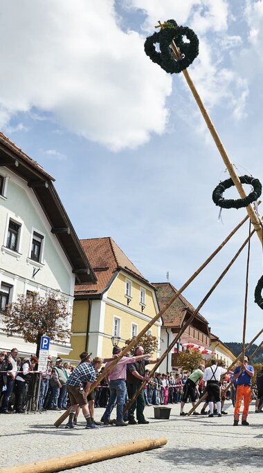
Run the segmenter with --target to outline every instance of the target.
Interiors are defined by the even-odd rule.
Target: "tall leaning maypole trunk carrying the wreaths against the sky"
[[[181,53],[179,48],[177,48],[176,44],[174,41],[172,41],[171,44],[172,51],[176,57],[176,59],[181,59]],[[221,142],[219,135],[217,133],[217,130],[215,129],[214,124],[212,123],[212,120],[210,119],[210,116],[208,115],[208,112],[206,111],[205,107],[203,106],[203,102],[201,101],[200,95],[197,92],[197,89],[194,86],[194,83],[192,82],[192,79],[190,78],[190,75],[187,71],[187,69],[184,69],[182,71],[186,82],[188,83],[188,86],[190,87],[190,91],[192,92],[192,95],[194,96],[195,101],[197,102],[197,105],[199,106],[199,109],[201,111],[201,114],[203,115],[203,119],[205,120],[208,130],[211,133],[211,136],[213,140],[215,141],[215,145],[217,146],[217,149],[219,153],[221,154],[221,158],[223,159],[228,172],[230,174],[230,177],[233,180],[233,183],[235,184],[235,187],[237,187],[237,192],[239,193],[239,196],[241,198],[245,198],[247,196],[246,192],[244,191],[244,188],[242,186],[242,183],[239,180],[237,171],[235,170],[235,167],[233,166],[233,163],[231,163],[230,158],[228,157],[228,154],[226,153],[226,149],[224,149],[224,145]],[[262,222],[258,218],[255,209],[252,204],[249,204],[246,207],[246,212],[248,212],[249,218],[251,219],[251,223],[253,224],[255,231],[257,232],[257,236],[259,237],[261,243],[263,243],[262,240]]]

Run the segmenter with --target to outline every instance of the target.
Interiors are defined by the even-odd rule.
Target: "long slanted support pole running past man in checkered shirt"
[[[125,349],[123,349],[123,351],[120,352],[120,355],[118,356],[118,358],[116,358],[116,360],[111,362],[109,367],[107,367],[103,371],[103,373],[101,373],[98,376],[96,381],[91,384],[91,389],[89,390],[90,393],[91,393],[91,391],[93,391],[93,389],[96,388],[96,386],[98,386],[98,384],[100,384],[100,381],[103,378],[105,378],[105,376],[109,373],[109,371],[111,371],[111,369],[113,369],[115,367],[115,365],[118,363],[118,360],[120,360],[120,358],[123,358],[123,356],[125,356],[126,353],[128,353],[128,351],[130,351],[138,343],[138,340],[140,340],[140,338],[143,337],[143,335],[147,332],[147,330],[149,330],[149,328],[152,327],[152,325],[163,315],[163,313],[165,313],[165,310],[167,310],[167,308],[169,308],[173,304],[173,302],[177,299],[177,297],[179,297],[179,295],[181,295],[181,293],[183,293],[183,290],[185,290],[190,285],[190,283],[192,281],[194,281],[194,279],[200,274],[200,272],[204,268],[206,268],[208,263],[210,263],[210,261],[212,261],[212,259],[217,255],[217,253],[219,253],[219,251],[222,248],[224,248],[224,245],[226,245],[226,243],[228,243],[230,238],[237,232],[237,230],[239,230],[240,227],[242,227],[242,225],[245,223],[245,221],[247,219],[248,219],[248,215],[246,217],[244,217],[244,219],[241,222],[239,222],[239,224],[232,230],[232,232],[230,232],[230,234],[228,234],[228,236],[226,236],[226,239],[224,239],[224,241],[222,241],[222,243],[215,249],[215,251],[213,251],[212,254],[210,254],[210,257],[208,257],[208,259],[206,259],[206,261],[204,261],[204,263],[201,264],[201,266],[192,274],[192,276],[185,282],[185,284],[183,284],[183,286],[181,286],[181,288],[176,292],[176,294],[174,294],[174,296],[172,297],[172,299],[170,299],[170,301],[166,304],[166,306],[163,307],[162,310],[160,310],[160,312],[158,312],[158,314],[156,314],[156,316],[147,324],[147,326],[145,326],[145,328],[143,328],[142,331],[140,331],[140,333],[133,340],[131,340],[129,345],[125,346]],[[68,409],[68,411],[69,411],[69,409]],[[69,416],[68,411],[65,411],[64,414],[62,414],[62,416],[60,416],[55,421],[55,423],[54,423],[55,427],[59,427],[60,424]]]

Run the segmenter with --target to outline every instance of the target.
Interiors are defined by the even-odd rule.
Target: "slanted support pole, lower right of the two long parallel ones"
[[[244,241],[244,243],[241,245],[241,247],[239,248],[239,250],[237,251],[237,253],[235,254],[235,256],[233,257],[233,259],[231,259],[230,263],[228,263],[228,266],[226,266],[226,268],[224,269],[224,271],[221,273],[221,275],[219,276],[219,278],[217,279],[217,281],[215,281],[215,284],[213,284],[212,288],[210,288],[210,290],[208,291],[208,293],[206,294],[206,296],[203,298],[203,300],[200,302],[199,306],[194,310],[194,312],[192,313],[191,317],[188,319],[187,322],[185,322],[185,324],[183,325],[183,327],[181,328],[181,330],[179,331],[179,333],[176,335],[176,337],[174,338],[174,340],[172,340],[172,342],[170,343],[170,345],[168,346],[168,348],[165,350],[165,352],[163,353],[163,355],[161,355],[161,358],[158,360],[158,362],[156,362],[156,364],[154,365],[154,368],[152,369],[152,371],[150,371],[149,373],[149,377],[151,377],[154,372],[156,371],[156,369],[160,366],[161,362],[163,362],[163,360],[166,358],[166,356],[168,355],[168,353],[170,353],[170,351],[172,350],[172,347],[176,344],[176,342],[179,340],[179,338],[181,337],[181,335],[183,335],[183,332],[185,331],[185,328],[188,327],[188,325],[190,325],[190,323],[192,322],[192,320],[194,319],[194,317],[197,315],[197,313],[199,313],[199,310],[201,309],[201,307],[203,307],[203,304],[205,304],[205,302],[207,301],[208,297],[210,297],[210,295],[212,294],[212,292],[215,290],[215,288],[218,286],[219,282],[223,279],[223,277],[226,275],[226,273],[228,272],[228,270],[230,269],[230,267],[233,265],[233,263],[235,263],[235,260],[237,259],[237,257],[239,257],[239,254],[242,252],[242,250],[244,249],[244,247],[246,246],[246,243],[248,243],[248,241],[250,241],[251,239],[251,236],[253,235],[253,233],[255,233],[255,230],[253,230],[253,232],[251,232],[251,234],[249,234],[248,238]],[[143,383],[140,385],[139,389],[136,391],[136,393],[134,393],[134,396],[132,396],[132,398],[129,400],[128,404],[125,406],[125,409],[124,411],[127,411],[127,409],[129,409],[131,407],[131,405],[134,403],[134,401],[138,398],[139,394],[141,391],[143,391],[143,388],[145,387],[145,384],[146,384],[147,381],[143,381]]]

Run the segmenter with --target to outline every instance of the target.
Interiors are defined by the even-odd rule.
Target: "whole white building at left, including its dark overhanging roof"
[[[0,133],[0,312],[18,295],[53,292],[72,313],[75,284],[96,282],[53,180]],[[21,354],[36,348],[7,337],[0,317],[0,349],[13,347]],[[53,356],[70,351],[69,342],[51,345]]]

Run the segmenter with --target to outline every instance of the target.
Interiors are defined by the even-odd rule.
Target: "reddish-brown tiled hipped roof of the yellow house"
[[[141,272],[134,266],[134,263],[126,256],[123,250],[115,243],[110,236],[104,238],[90,238],[80,240],[83,250],[98,279],[96,284],[82,284],[75,288],[75,297],[83,296],[87,298],[98,297],[109,288],[111,280],[120,270],[127,273],[127,276],[139,279],[143,284],[154,287],[147,281]]]

